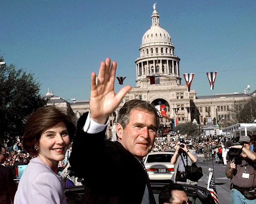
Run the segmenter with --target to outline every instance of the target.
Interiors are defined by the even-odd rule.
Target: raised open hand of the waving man
[[[91,94],[90,94],[90,117],[100,124],[105,124],[109,114],[114,112],[121,102],[121,99],[132,88],[127,85],[115,94],[114,82],[116,62],[112,62],[110,68],[110,59],[106,58],[101,62],[96,85],[96,74],[91,74]]]

